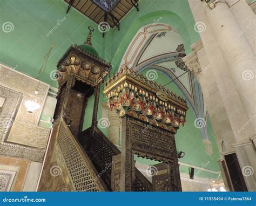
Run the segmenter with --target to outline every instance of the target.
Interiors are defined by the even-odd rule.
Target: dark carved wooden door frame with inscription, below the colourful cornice
[[[125,191],[133,190],[135,177],[135,165],[133,156],[145,157],[170,164],[173,171],[173,187],[175,191],[181,191],[178,157],[174,134],[166,129],[150,125],[126,115],[123,118],[122,159],[125,163],[122,170],[125,174],[121,177],[121,188]]]

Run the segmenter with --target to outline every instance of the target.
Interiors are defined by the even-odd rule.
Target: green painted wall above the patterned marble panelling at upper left
[[[0,25],[11,22],[13,29],[0,31],[0,62],[35,78],[45,54],[54,44],[42,80],[58,87],[57,81],[50,78],[51,71],[57,69],[58,60],[70,45],[85,42],[88,26],[95,29],[92,45],[99,56],[110,59],[104,53],[107,38],[102,38],[97,24],[73,8],[67,14],[67,7],[62,0],[0,1]]]

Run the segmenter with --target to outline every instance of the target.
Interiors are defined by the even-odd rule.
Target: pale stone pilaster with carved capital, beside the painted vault
[[[234,152],[232,147],[232,143],[235,143],[234,133],[201,40],[191,45],[191,49],[193,52],[184,57],[183,61],[194,72],[194,75],[196,75],[196,78],[191,84],[194,84],[197,80],[204,94],[204,101],[210,116],[220,155],[222,152],[222,141],[225,141],[228,152]]]

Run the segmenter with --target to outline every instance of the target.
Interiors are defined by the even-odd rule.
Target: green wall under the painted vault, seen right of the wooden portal
[[[143,70],[143,74],[146,75],[146,72],[150,69]],[[151,68],[152,70],[152,68]],[[155,80],[157,83],[161,85],[165,85],[169,83],[171,80],[167,75],[161,71],[157,71],[157,79]],[[183,98],[186,98],[185,95],[180,91],[176,84],[173,82],[169,85],[165,86],[169,88],[170,91],[180,95]],[[188,101],[187,101],[188,102]],[[194,126],[194,120],[196,119],[196,115],[193,112],[192,106],[188,103],[188,111],[186,114],[186,120],[184,127],[180,126],[177,134],[175,135],[177,151],[185,152],[185,156],[180,159],[180,162],[192,164],[197,167],[204,167],[205,169],[220,171],[217,160],[219,157],[218,147],[214,139],[214,134],[212,130],[212,126],[210,121],[208,121],[208,136],[212,142],[213,147],[213,155],[207,155],[205,152],[205,147],[203,144],[203,139],[201,137],[200,130]],[[134,158],[137,160],[136,158]],[[154,164],[150,160],[141,159],[140,162],[145,164]],[[209,163],[210,162],[210,163]],[[180,173],[187,173],[188,167],[181,166]],[[195,174],[197,173],[198,177],[208,177],[208,178],[217,178],[218,175],[208,173],[206,171],[197,171],[195,170]]]

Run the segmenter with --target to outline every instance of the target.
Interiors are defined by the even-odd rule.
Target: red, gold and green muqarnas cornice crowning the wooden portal
[[[123,68],[105,82],[104,94],[111,111],[150,122],[174,133],[186,122],[186,100],[147,79],[132,68]]]

